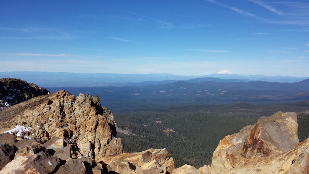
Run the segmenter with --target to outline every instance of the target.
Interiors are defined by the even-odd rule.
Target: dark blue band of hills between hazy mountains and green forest
[[[305,81],[306,82],[306,81]],[[186,82],[122,87],[58,87],[77,96],[80,92],[99,95],[114,112],[147,111],[164,105],[214,105],[290,103],[309,100],[308,83],[250,82]]]

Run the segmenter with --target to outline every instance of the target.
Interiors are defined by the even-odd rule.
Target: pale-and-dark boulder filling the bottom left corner
[[[18,156],[0,171],[0,174],[52,174],[60,166],[60,160],[45,152],[30,156]]]

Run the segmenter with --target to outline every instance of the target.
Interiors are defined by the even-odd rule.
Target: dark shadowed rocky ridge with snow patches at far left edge
[[[49,94],[47,89],[39,88],[36,84],[27,83],[24,80],[13,78],[0,79],[0,110],[47,94]]]

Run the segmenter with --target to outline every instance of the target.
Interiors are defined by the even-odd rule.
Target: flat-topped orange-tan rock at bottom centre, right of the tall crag
[[[165,149],[103,156],[97,162],[111,173],[171,173],[174,170],[174,161]]]

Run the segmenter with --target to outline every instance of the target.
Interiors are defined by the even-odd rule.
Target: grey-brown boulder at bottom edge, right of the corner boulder
[[[78,159],[70,159],[66,164],[59,167],[55,174],[87,174],[91,169],[92,161],[90,158],[81,157]]]

